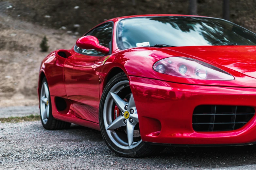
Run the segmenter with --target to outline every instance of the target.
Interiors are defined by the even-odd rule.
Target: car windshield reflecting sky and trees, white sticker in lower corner
[[[256,34],[229,21],[205,17],[161,16],[129,18],[118,25],[118,44],[133,47],[256,45]]]

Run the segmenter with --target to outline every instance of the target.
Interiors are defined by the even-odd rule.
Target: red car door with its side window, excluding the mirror
[[[111,53],[112,29],[112,22],[108,22],[86,35],[98,38],[99,44],[108,47]],[[106,54],[80,49],[76,45],[74,51],[76,53],[66,59],[63,68],[67,97],[72,101],[77,117],[98,123],[99,68]]]

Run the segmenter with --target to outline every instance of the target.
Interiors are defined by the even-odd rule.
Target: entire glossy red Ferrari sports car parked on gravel
[[[105,21],[42,62],[45,129],[100,130],[125,157],[164,146],[256,142],[256,34],[222,19],[141,15]]]

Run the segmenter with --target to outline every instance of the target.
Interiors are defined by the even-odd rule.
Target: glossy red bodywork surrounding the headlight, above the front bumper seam
[[[174,83],[194,84],[194,85],[211,85],[211,86],[227,86],[227,87],[254,87],[256,79],[236,72],[228,70],[235,79],[234,80],[203,80],[193,78],[183,78],[158,73],[153,70],[153,65],[164,58],[168,57],[188,57],[212,64],[215,67],[225,70],[221,65],[205,61],[196,56],[188,55],[182,52],[166,48],[140,47],[123,51],[118,51],[111,55],[105,64],[101,66],[103,75],[107,75],[113,67],[120,67],[128,76],[142,77],[163,80]],[[226,68],[227,69],[227,68]]]

